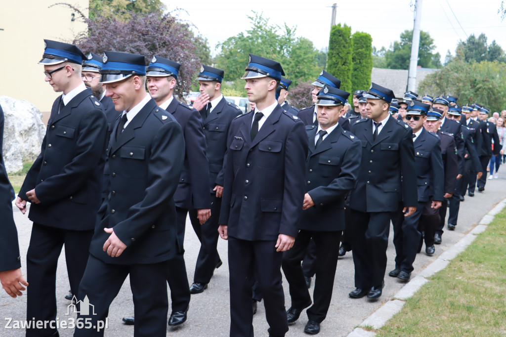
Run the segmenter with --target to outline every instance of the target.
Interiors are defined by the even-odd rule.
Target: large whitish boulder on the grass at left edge
[[[18,172],[23,162],[34,161],[46,134],[42,113],[30,102],[0,96],[4,110],[4,161],[7,173]]]

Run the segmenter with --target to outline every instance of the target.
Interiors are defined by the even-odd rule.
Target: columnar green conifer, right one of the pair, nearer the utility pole
[[[372,37],[363,32],[355,32],[353,40],[352,92],[366,90],[371,86]]]

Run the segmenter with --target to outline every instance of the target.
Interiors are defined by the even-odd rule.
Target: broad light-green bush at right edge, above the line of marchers
[[[458,105],[478,103],[492,111],[501,111],[506,106],[506,64],[455,59],[427,75],[418,88],[433,96],[457,96]]]

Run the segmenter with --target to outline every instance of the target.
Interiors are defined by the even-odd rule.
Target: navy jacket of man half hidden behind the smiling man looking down
[[[185,159],[179,179],[178,189],[174,194],[176,206],[184,209],[202,209],[211,206],[207,186],[209,184],[209,161],[205,156],[205,135],[199,112],[175,98],[167,106],[181,125],[185,138]]]

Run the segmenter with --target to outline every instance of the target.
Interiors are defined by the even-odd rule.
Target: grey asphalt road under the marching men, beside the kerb
[[[499,170],[499,175],[506,175],[506,169]],[[504,176],[506,177],[506,176]],[[436,245],[436,254],[429,257],[425,252],[418,254],[414,263],[414,272],[412,277],[421,269],[434,261],[444,250],[452,246],[463,235],[468,233],[474,225],[491,209],[497,202],[506,197],[506,179],[487,181],[485,192],[476,192],[475,197],[466,196],[466,201],[460,205],[460,214],[457,228],[449,232],[445,228],[443,234],[443,243]],[[14,219],[18,228],[21,258],[23,261],[22,270],[26,277],[25,257],[31,233],[31,222],[26,216],[23,216],[17,209],[14,209]],[[0,220],[1,221],[1,220]],[[390,244],[388,247],[388,272],[394,268],[395,249],[392,243],[393,230],[391,230]],[[338,243],[336,243],[338,244]],[[199,249],[199,241],[193,232],[189,220],[187,221],[187,230],[185,237],[185,260],[187,265],[188,279],[192,283],[195,261]],[[218,250],[223,260],[223,266],[216,270],[215,276],[209,283],[209,287],[203,293],[192,295],[188,320],[179,328],[167,328],[167,336],[193,337],[193,336],[227,336],[230,327],[230,307],[229,307],[229,280],[227,263],[227,243],[220,239]],[[425,249],[423,249],[425,251]],[[1,257],[0,257],[1,258]],[[351,252],[338,262],[338,268],[335,275],[334,288],[332,293],[332,302],[327,318],[321,324],[320,336],[345,336],[360,324],[367,316],[382,306],[385,301],[389,301],[392,296],[403,286],[403,283],[396,278],[386,275],[385,289],[383,296],[377,302],[370,302],[364,299],[350,299],[348,293],[354,289],[354,267]],[[28,279],[29,281],[29,279]],[[117,298],[114,300],[109,311],[108,329],[106,336],[124,337],[134,334],[133,326],[123,325],[121,318],[123,316],[132,316],[134,305],[129,280],[127,279],[121,288]],[[311,286],[311,293],[313,290]],[[288,284],[283,282],[285,290],[285,304],[290,307],[288,296]],[[69,301],[64,296],[69,290],[67,271],[65,266],[65,255],[60,256],[56,298],[58,303],[58,317],[60,320],[66,320],[67,306]],[[170,291],[170,290],[168,290]],[[170,311],[170,309],[169,309]],[[0,291],[0,317],[12,318],[13,320],[24,320],[26,315],[26,296],[12,299],[3,290]],[[75,317],[73,315],[72,317]],[[259,336],[267,336],[267,321],[265,319],[265,309],[260,303],[258,312],[254,317],[255,332]],[[290,325],[287,336],[304,336],[303,330],[307,322],[307,316],[303,312],[301,318]],[[6,329],[7,320],[0,326],[0,337],[24,336],[24,330]],[[61,336],[71,336],[72,330],[60,329]]]

